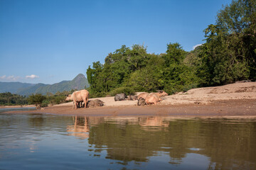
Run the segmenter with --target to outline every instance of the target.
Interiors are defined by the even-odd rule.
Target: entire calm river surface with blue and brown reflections
[[[256,120],[1,113],[0,169],[256,169]]]

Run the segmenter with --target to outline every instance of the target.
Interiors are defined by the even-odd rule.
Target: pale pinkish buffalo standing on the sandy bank
[[[88,102],[88,95],[89,92],[87,90],[74,91],[73,94],[67,96],[65,101],[73,100],[73,108],[75,106],[75,109],[78,108],[78,103],[83,101],[85,103],[86,108],[86,104]]]

